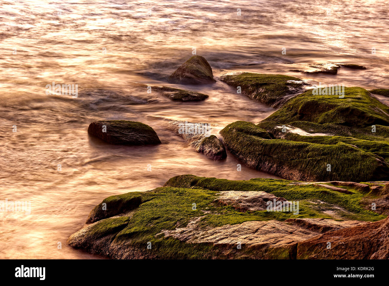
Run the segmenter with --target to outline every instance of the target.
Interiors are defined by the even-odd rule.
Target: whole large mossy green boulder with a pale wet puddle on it
[[[389,107],[363,88],[337,95],[310,89],[258,125],[237,121],[221,134],[247,165],[287,179],[386,180],[388,114]]]

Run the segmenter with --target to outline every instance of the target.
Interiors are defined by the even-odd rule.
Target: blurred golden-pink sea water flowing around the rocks
[[[385,1],[0,0],[0,200],[32,203],[29,215],[0,212],[0,257],[95,258],[65,245],[89,211],[109,195],[146,191],[175,175],[274,177],[245,166],[237,172],[233,156],[209,160],[166,129],[166,119],[218,129],[237,120],[256,123],[274,109],[220,81],[179,86],[167,84],[168,75],[196,48],[216,78],[221,69],[245,70],[389,88],[387,16]],[[368,69],[289,72],[324,62]],[[53,81],[77,84],[78,97],[46,95]],[[172,102],[132,82],[209,98]],[[144,122],[162,144],[104,144],[87,133],[90,122],[102,119]]]

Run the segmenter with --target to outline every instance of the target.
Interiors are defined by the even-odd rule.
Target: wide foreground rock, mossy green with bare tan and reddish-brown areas
[[[117,259],[389,258],[388,219],[361,207],[366,193],[293,183],[173,177],[152,191],[106,198],[67,243]],[[274,201],[300,207],[268,209]]]

